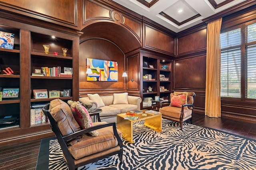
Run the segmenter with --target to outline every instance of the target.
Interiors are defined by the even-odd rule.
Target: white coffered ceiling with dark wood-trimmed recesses
[[[178,33],[246,0],[113,0]]]

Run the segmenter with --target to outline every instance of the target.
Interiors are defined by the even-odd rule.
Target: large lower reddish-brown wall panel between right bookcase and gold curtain
[[[174,90],[205,90],[206,55],[174,60],[173,78]]]

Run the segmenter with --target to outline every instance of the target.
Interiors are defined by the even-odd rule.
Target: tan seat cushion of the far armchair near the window
[[[165,107],[160,108],[159,111],[160,111],[160,113],[162,113],[162,115],[180,119],[180,112],[181,112],[180,107],[165,106]],[[192,110],[184,109],[183,118],[186,118],[190,115],[192,115]]]

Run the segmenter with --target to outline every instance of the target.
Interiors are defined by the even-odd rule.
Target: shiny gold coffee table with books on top
[[[145,113],[146,110],[141,110],[143,113]],[[153,129],[154,131],[162,132],[162,114],[149,114],[146,113],[147,116],[142,116],[142,113],[134,114],[133,116],[140,117],[139,120],[127,120],[124,119],[126,117],[126,113],[121,113],[116,115],[117,120],[117,129],[122,132],[122,137],[128,141],[129,143],[134,143],[133,141],[133,127],[132,123],[144,120],[144,126]]]

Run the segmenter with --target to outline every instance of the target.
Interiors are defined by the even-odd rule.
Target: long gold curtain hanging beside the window
[[[220,117],[220,28],[222,18],[208,23],[205,115]]]

